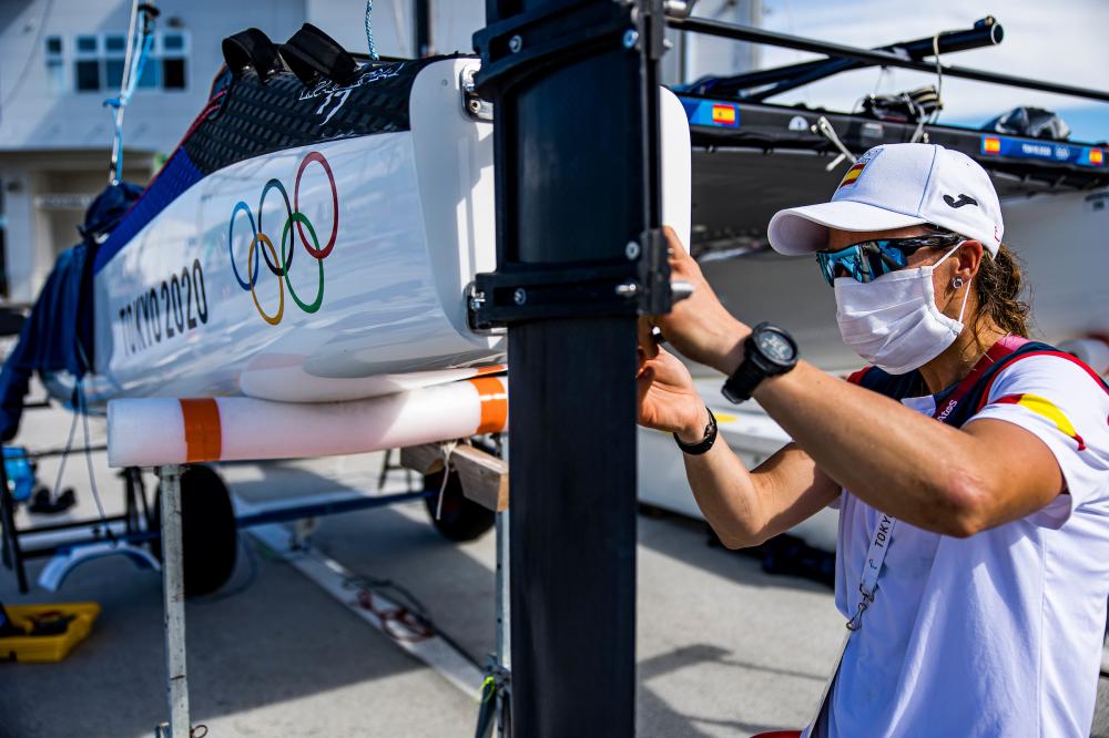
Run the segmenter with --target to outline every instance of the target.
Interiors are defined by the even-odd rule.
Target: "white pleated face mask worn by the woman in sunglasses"
[[[970,285],[954,320],[936,307],[932,273],[962,245],[936,264],[891,271],[865,284],[836,278],[835,318],[844,344],[891,375],[919,369],[943,353],[963,331]]]

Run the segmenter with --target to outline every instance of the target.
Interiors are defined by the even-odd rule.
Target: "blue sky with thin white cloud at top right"
[[[702,0],[713,7],[726,0]],[[877,47],[966,29],[994,16],[1005,29],[994,48],[950,54],[945,62],[1051,82],[1109,89],[1109,1],[1106,0],[763,0],[763,25],[770,30]],[[702,14],[702,13],[698,13]],[[762,66],[814,59],[812,54],[762,48]],[[909,70],[876,69],[841,74],[774,102],[807,102],[851,110],[855,101],[877,90],[912,90],[935,82],[935,75]],[[1109,103],[1032,92],[969,80],[945,79],[942,122],[980,125],[1017,105],[1058,112],[1078,141],[1109,140]]]

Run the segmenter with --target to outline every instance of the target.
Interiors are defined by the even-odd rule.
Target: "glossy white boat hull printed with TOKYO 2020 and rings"
[[[410,130],[246,158],[176,196],[95,275],[91,401],[347,401],[500,361],[503,336],[467,322],[467,286],[496,268],[492,124],[460,89],[476,66],[421,69]],[[664,215],[688,238],[689,125],[661,95]]]

